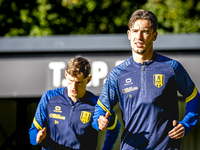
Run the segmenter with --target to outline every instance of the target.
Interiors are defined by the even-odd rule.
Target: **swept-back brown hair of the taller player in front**
[[[133,24],[137,19],[146,19],[150,21],[151,29],[153,29],[153,32],[156,32],[157,30],[157,17],[154,13],[151,11],[138,9],[136,10],[130,17],[128,22],[129,29],[132,28]]]

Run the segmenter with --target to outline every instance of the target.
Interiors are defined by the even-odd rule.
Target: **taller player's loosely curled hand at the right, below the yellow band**
[[[176,120],[173,121],[174,128],[169,131],[169,137],[171,139],[180,139],[184,135],[184,127],[182,124],[178,123]]]

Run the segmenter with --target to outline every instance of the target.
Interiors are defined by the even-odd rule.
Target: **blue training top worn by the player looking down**
[[[89,91],[76,103],[68,97],[66,87],[46,91],[29,129],[31,144],[37,145],[37,133],[46,127],[47,135],[41,143],[43,150],[95,150],[98,132],[91,123],[97,100],[98,96]],[[120,122],[112,114],[115,117],[111,118],[104,150],[113,147],[120,130]]]

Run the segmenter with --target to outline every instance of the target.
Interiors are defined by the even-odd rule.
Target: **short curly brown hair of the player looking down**
[[[90,75],[91,67],[87,59],[83,57],[72,58],[66,68],[66,72],[72,76],[83,75],[84,78]]]

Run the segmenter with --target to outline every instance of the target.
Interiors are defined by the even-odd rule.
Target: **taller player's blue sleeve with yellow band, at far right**
[[[199,119],[200,94],[195,84],[181,64],[178,63],[175,73],[177,89],[179,93],[185,97],[186,112],[183,120],[179,121],[178,124],[174,127],[174,131],[177,132],[176,127],[181,124],[184,127],[183,136],[186,136],[191,132]],[[179,129],[181,129],[181,127]]]

